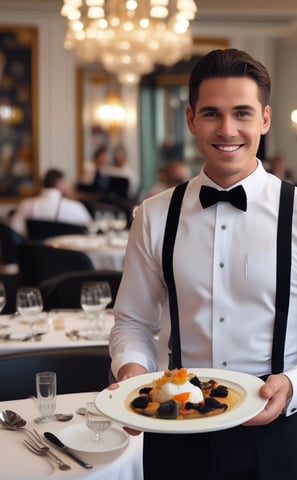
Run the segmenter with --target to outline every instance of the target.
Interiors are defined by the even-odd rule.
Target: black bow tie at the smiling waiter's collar
[[[210,207],[217,202],[230,202],[234,207],[244,212],[247,209],[246,193],[242,185],[231,188],[231,190],[217,190],[202,185],[199,198],[203,208]]]

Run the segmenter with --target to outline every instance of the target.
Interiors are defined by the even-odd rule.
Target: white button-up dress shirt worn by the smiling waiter
[[[182,204],[173,270],[184,367],[213,367],[261,376],[271,372],[275,315],[276,239],[280,180],[261,162],[243,185],[248,207],[227,202],[203,209],[202,171]],[[145,200],[130,232],[110,337],[112,369],[127,362],[149,371],[168,367],[170,316],[162,273],[162,243],[172,189]],[[297,408],[297,204],[294,206],[291,297],[284,371]],[[156,341],[154,336],[159,335]]]

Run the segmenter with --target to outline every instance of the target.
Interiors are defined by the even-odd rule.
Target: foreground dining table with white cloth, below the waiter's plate
[[[47,446],[71,468],[60,470],[48,456],[38,456],[29,451],[24,445],[27,437],[25,429],[17,431],[7,430],[0,425],[0,465],[1,478],[9,480],[143,480],[142,446],[143,434],[130,436],[125,433],[123,425],[113,423],[111,428],[119,432],[119,436],[111,443],[101,447],[91,447],[92,435],[86,427],[84,415],[76,411],[85,407],[87,402],[96,399],[96,392],[72,393],[57,395],[57,413],[72,413],[73,418],[68,422],[51,421],[45,424],[35,424],[34,419],[40,414],[36,405],[36,398],[10,400],[0,402],[0,411],[12,410],[26,420],[25,428],[33,429],[44,438],[43,433],[52,432],[60,439],[64,439],[72,452],[79,455],[93,468],[83,468],[72,458],[47,443]],[[106,433],[104,434],[106,435]],[[66,440],[67,442],[66,442]],[[74,443],[76,442],[76,443]],[[104,442],[104,438],[103,438]],[[74,448],[75,447],[75,448]],[[105,451],[104,451],[105,450]]]

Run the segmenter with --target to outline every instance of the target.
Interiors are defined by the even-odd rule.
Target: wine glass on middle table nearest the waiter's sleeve
[[[108,282],[85,282],[82,286],[80,303],[89,319],[89,336],[95,339],[101,334],[99,322],[106,306],[111,302],[111,290]]]

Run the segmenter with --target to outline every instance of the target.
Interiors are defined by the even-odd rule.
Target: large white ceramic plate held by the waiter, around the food
[[[265,407],[267,400],[259,396],[262,380],[253,375],[231,370],[212,368],[188,368],[202,381],[217,380],[220,384],[236,390],[240,395],[238,404],[224,413],[194,419],[167,420],[146,417],[133,412],[130,402],[138,396],[139,388],[150,385],[154,379],[160,378],[163,372],[148,373],[129,378],[119,383],[116,390],[105,389],[100,392],[95,403],[97,408],[111,419],[146,432],[159,433],[200,433],[224,430],[235,427],[249,420]]]

